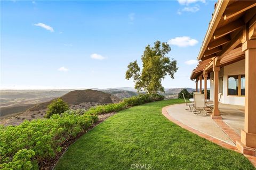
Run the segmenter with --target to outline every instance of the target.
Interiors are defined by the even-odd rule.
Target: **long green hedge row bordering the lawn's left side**
[[[63,113],[51,112],[47,116],[49,118],[25,121],[18,126],[0,126],[0,169],[39,169],[61,152],[63,143],[97,122],[99,114],[118,112],[161,99],[160,95],[139,95],[87,111],[66,109],[62,101],[54,100],[49,108],[56,108],[55,105],[61,103],[61,107],[65,108]]]

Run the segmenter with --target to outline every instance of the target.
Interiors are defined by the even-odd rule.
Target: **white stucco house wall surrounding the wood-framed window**
[[[245,74],[245,60],[238,61],[236,63],[227,65],[222,67],[219,72],[219,77],[223,77],[223,94],[221,96],[220,102],[223,104],[231,104],[231,105],[243,105],[245,103],[244,97],[238,96],[228,96],[228,75],[238,75]],[[211,96],[210,99],[213,100],[213,73],[210,74],[210,88],[211,88]]]

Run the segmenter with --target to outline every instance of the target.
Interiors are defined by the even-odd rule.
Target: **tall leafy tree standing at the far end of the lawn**
[[[135,89],[138,91],[146,90],[148,94],[157,94],[164,92],[162,80],[166,75],[170,75],[174,79],[174,73],[177,72],[177,61],[170,60],[166,55],[171,51],[171,47],[167,43],[156,41],[154,47],[150,45],[145,47],[144,53],[141,56],[142,71],[137,63],[137,60],[131,62],[127,67],[125,79],[133,78]]]

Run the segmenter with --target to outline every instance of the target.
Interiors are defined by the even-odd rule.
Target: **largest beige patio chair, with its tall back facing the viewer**
[[[205,98],[203,94],[194,94],[194,108],[193,108],[193,114],[198,115],[206,112],[206,106],[205,106]]]

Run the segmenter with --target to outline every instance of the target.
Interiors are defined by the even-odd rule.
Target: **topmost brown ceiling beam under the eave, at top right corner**
[[[227,6],[223,14],[224,20],[230,19],[254,6],[256,6],[256,1],[237,1]]]

